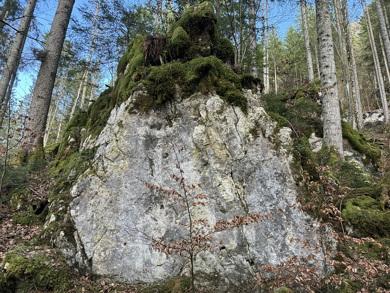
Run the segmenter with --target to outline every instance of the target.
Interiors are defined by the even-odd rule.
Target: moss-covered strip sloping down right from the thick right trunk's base
[[[377,160],[381,157],[380,149],[368,143],[364,136],[354,130],[347,122],[341,121],[341,127],[343,137],[348,139],[349,143],[355,150],[365,156],[362,158],[362,161],[365,164],[370,162],[376,164]]]

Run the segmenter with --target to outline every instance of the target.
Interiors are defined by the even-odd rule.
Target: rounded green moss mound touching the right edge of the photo
[[[341,213],[344,222],[373,237],[390,235],[390,212],[383,211],[370,196],[349,198]]]

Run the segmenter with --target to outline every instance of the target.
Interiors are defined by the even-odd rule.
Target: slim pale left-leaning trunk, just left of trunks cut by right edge
[[[364,3],[365,3],[365,0],[364,0]],[[387,124],[388,123],[388,119],[389,119],[389,117],[388,117],[388,106],[387,106],[387,101],[386,101],[386,93],[385,93],[385,90],[384,90],[382,72],[381,72],[381,68],[379,66],[379,58],[378,58],[377,48],[375,46],[373,28],[371,26],[371,19],[369,17],[369,13],[368,13],[368,11],[366,9],[367,5],[363,4],[363,0],[361,0],[361,4],[362,4],[363,12],[364,12],[364,18],[365,18],[365,21],[366,21],[366,24],[367,24],[367,32],[368,32],[368,36],[369,36],[369,43],[371,45],[371,50],[372,50],[373,56],[374,56],[375,77],[376,77],[376,80],[377,80],[377,85],[379,87],[379,93],[381,95],[381,102],[382,102],[382,107],[383,107],[383,116],[384,116],[383,123]]]

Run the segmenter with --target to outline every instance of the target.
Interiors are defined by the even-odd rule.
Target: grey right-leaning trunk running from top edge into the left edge
[[[34,14],[35,5],[36,0],[28,0],[21,23],[18,27],[18,32],[16,33],[15,40],[12,43],[7,59],[7,65],[4,67],[2,78],[0,79],[0,104],[3,104],[4,102],[12,74],[17,71],[19,60],[22,57],[22,51],[26,42],[26,36],[30,28],[32,16]]]

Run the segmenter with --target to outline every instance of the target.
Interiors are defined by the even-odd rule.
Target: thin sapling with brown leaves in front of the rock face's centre
[[[143,232],[142,237],[144,240],[147,240],[147,243],[154,250],[165,253],[166,255],[179,255],[187,260],[190,269],[191,291],[194,293],[194,280],[196,275],[194,264],[196,263],[198,254],[204,251],[211,251],[213,248],[222,245],[222,241],[216,241],[214,239],[214,234],[265,221],[274,215],[274,213],[268,213],[267,215],[260,213],[252,213],[245,216],[236,215],[233,216],[231,221],[219,220],[214,225],[210,224],[206,218],[195,217],[193,213],[194,209],[205,207],[207,204],[209,196],[201,193],[201,189],[205,184],[187,184],[182,164],[185,161],[188,162],[189,159],[180,157],[186,149],[178,149],[177,144],[170,143],[170,150],[174,154],[176,161],[175,167],[178,170],[178,175],[172,173],[170,177],[177,182],[178,188],[166,189],[157,185],[148,184],[147,182],[144,182],[144,184],[148,189],[160,193],[164,200],[172,201],[179,208],[185,210],[186,222],[175,221],[173,224],[186,227],[187,235],[174,242],[168,242],[163,236],[149,236]]]

